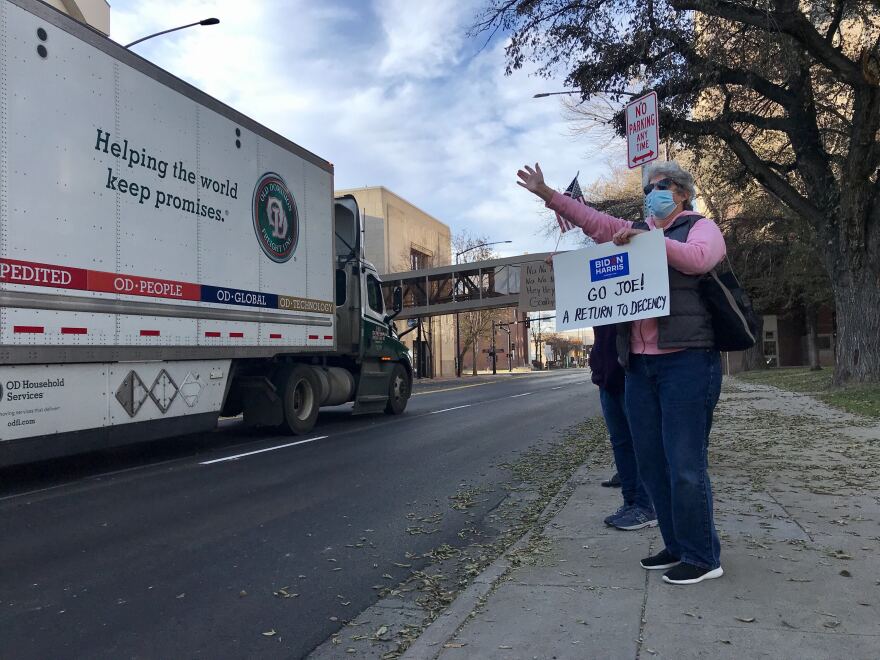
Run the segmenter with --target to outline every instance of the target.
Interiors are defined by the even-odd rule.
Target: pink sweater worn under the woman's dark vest
[[[556,211],[570,223],[580,227],[587,236],[597,243],[607,243],[618,229],[632,227],[633,224],[629,220],[621,220],[607,215],[559,193],[553,194],[547,203],[547,208]],[[651,229],[655,229],[653,220],[653,218],[648,219],[648,226]],[[672,226],[672,221],[667,226]],[[724,245],[721,230],[708,218],[694,223],[686,243],[671,238],[666,239],[667,262],[672,268],[685,275],[708,273],[721,262],[726,253],[727,248]],[[633,321],[630,350],[633,353],[659,355],[684,349],[659,348],[657,346],[657,319],[644,319]]]

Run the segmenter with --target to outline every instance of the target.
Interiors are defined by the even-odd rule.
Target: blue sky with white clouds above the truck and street
[[[560,76],[504,75],[504,35],[467,32],[484,0],[111,0],[120,43],[215,16],[132,50],[332,162],[336,189],[385,186],[490,241],[553,250],[549,212],[516,185],[540,162],[564,189],[625,161],[622,140],[573,133]],[[552,218],[552,215],[549,215]],[[559,249],[575,247],[580,232]]]

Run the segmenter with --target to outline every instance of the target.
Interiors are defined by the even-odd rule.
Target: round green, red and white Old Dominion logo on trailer
[[[260,177],[252,212],[254,232],[266,256],[278,263],[290,259],[299,240],[299,214],[284,179],[274,172]]]

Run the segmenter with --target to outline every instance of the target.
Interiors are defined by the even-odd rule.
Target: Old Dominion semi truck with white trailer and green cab
[[[330,162],[38,0],[0,0],[0,52],[0,466],[404,411]]]

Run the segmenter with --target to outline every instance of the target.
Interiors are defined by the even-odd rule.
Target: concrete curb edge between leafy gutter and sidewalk
[[[559,489],[559,492],[553,496],[553,499],[541,511],[539,520],[543,523],[540,529],[533,527],[529,532],[524,534],[520,539],[504,551],[498,559],[489,564],[488,568],[480,573],[467,589],[462,591],[458,597],[452,602],[447,610],[438,616],[431,624],[425,628],[419,638],[404,651],[400,656],[401,660],[433,660],[443,652],[443,643],[449,640],[459,628],[461,628],[470,618],[473,611],[511,570],[513,564],[510,561],[510,555],[524,548],[531,539],[544,531],[547,524],[552,520],[549,514],[556,507],[561,508],[565,502],[569,500],[574,492],[574,486],[583,476],[585,466],[581,466],[575,470],[568,480]]]

